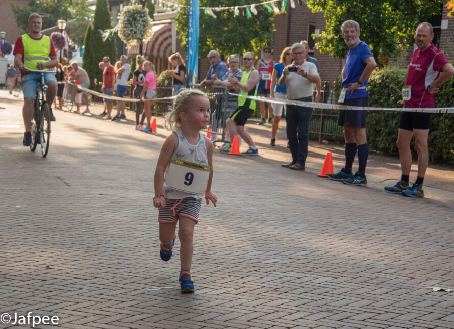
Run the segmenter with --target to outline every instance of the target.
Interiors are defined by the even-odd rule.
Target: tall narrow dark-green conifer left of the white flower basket
[[[84,54],[82,67],[87,71],[91,85],[94,87],[94,78],[98,81],[103,79],[103,73],[99,69],[99,62],[104,56],[108,56],[114,64],[117,56],[116,38],[112,35],[105,42],[102,40],[102,32],[110,29],[110,13],[107,9],[107,0],[96,0],[96,10],[92,24],[88,24],[84,38]]]

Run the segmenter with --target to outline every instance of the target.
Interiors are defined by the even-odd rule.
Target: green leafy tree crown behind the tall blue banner
[[[256,0],[200,0],[200,7],[241,6],[257,3]],[[189,1],[184,0],[184,5]],[[274,13],[258,8],[258,14],[250,18],[242,14],[235,16],[231,10],[214,11],[217,18],[200,11],[199,56],[206,57],[211,49],[221,56],[258,52],[263,46],[271,45],[274,32]],[[189,8],[183,7],[176,16],[177,31],[182,47],[187,47]]]

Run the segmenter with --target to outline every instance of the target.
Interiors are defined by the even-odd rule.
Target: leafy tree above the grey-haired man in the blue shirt
[[[313,12],[323,12],[326,30],[318,36],[321,53],[344,58],[347,45],[341,25],[347,19],[360,24],[361,40],[370,45],[375,58],[398,56],[413,45],[413,33],[419,23],[439,14],[443,0],[307,0]]]

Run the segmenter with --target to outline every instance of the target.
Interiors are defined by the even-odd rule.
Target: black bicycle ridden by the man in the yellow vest
[[[41,73],[41,82],[40,86],[36,88],[35,103],[33,105],[32,143],[30,144],[30,150],[34,152],[39,142],[41,144],[41,155],[45,158],[49,151],[51,139],[51,108],[49,108],[46,102],[47,85],[44,83],[44,73],[55,73],[56,71],[31,70],[29,68],[26,71]]]

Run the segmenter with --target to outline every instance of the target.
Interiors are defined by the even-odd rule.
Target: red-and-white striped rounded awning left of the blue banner
[[[172,53],[172,23],[155,24],[152,26],[152,36],[143,40],[143,55],[154,58],[167,58]],[[128,57],[139,54],[139,45],[128,47]]]

